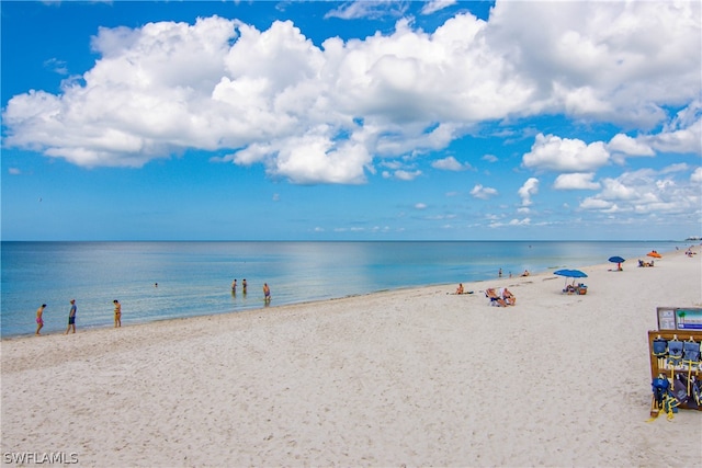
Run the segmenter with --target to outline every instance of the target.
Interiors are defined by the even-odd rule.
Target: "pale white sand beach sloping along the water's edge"
[[[702,411],[647,422],[647,331],[658,306],[702,306],[702,254],[623,266],[581,269],[585,296],[552,274],[464,282],[474,294],[457,296],[456,277],[3,340],[2,464],[699,466]],[[517,305],[490,307],[492,286]]]

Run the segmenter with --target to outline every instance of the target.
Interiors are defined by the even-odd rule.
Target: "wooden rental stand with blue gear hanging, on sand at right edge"
[[[702,308],[658,307],[658,330],[648,332],[650,378],[666,378],[678,409],[702,411]],[[652,397],[650,415],[661,408]]]

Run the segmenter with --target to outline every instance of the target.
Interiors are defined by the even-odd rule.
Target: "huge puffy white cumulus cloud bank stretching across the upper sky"
[[[378,160],[445,149],[479,123],[541,115],[641,135],[609,144],[539,135],[523,156],[529,169],[587,173],[610,151],[647,156],[646,147],[702,152],[700,2],[498,0],[488,21],[456,13],[431,33],[403,18],[401,2],[330,8],[328,16],[398,21],[389,33],[320,46],[291,21],[101,27],[82,76],[57,93],[10,98],[3,145],[82,167],[229,152],[218,160],[302,184],[363,183]]]

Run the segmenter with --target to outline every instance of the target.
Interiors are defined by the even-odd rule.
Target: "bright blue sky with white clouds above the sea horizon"
[[[699,1],[0,9],[3,240],[702,233]]]

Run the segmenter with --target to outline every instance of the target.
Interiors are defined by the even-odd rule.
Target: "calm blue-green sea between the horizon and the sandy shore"
[[[689,242],[688,242],[689,243]],[[77,326],[123,326],[304,303],[419,285],[471,283],[524,270],[544,272],[644,258],[684,242],[2,242],[3,338],[64,331],[69,300]],[[238,279],[237,295],[231,282]],[[246,278],[248,294],[241,282]],[[158,287],[156,284],[158,283]]]

